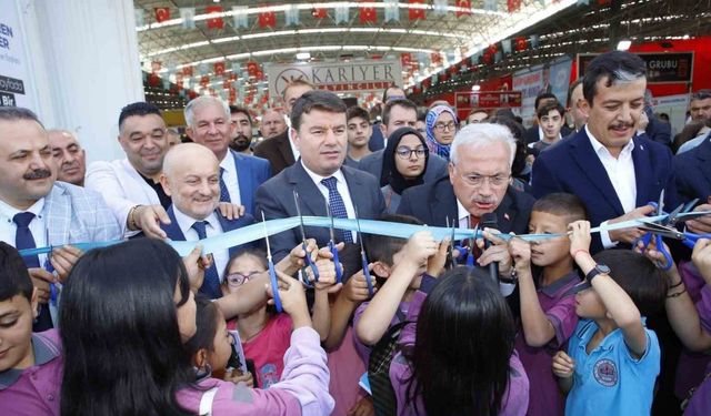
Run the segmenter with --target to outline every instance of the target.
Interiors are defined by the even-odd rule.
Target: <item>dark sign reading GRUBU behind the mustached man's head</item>
[[[638,52],[647,64],[647,83],[663,84],[691,82],[693,79],[693,52]],[[597,53],[578,54],[578,73],[584,75],[585,69]]]

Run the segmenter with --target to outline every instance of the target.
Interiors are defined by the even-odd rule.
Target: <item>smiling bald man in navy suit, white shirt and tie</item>
[[[197,143],[177,144],[163,160],[160,176],[163,191],[172,200],[168,209],[169,224],[161,224],[168,239],[198,241],[241,229],[254,222],[246,214],[238,220],[228,220],[218,210],[220,203],[220,164],[214,153]],[[249,244],[251,246],[252,244]],[[220,284],[230,255],[246,248],[238,245],[212,253],[214,261],[206,270],[200,293],[218,298],[222,296]]]

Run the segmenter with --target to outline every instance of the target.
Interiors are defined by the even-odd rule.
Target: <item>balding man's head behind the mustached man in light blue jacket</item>
[[[87,174],[87,154],[77,136],[67,130],[49,130],[49,145],[57,164],[57,180],[83,186]]]

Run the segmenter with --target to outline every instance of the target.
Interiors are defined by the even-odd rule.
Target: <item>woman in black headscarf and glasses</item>
[[[404,190],[424,183],[429,156],[427,143],[417,130],[401,128],[390,135],[380,176],[388,213],[394,214],[398,211]]]

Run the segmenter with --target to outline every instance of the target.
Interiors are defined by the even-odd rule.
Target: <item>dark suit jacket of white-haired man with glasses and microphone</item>
[[[529,229],[529,217],[533,197],[525,192],[509,186],[499,206],[494,210],[499,220],[499,231],[523,234]],[[432,226],[451,225],[459,217],[457,196],[449,175],[440,176],[432,183],[412,186],[402,193],[398,214],[411,215]]]

